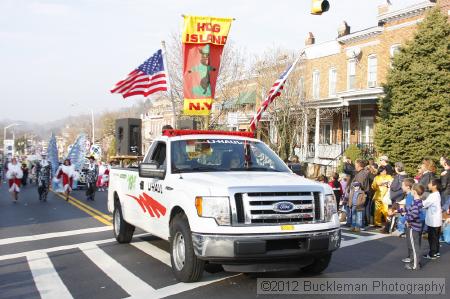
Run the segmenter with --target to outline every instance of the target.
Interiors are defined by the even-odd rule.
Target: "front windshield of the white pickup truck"
[[[191,139],[171,144],[172,173],[212,171],[289,172],[264,143],[237,139]]]

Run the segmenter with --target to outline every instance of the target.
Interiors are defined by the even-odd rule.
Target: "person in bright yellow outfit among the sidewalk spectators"
[[[392,180],[392,176],[387,174],[386,167],[380,166],[378,168],[378,175],[375,177],[372,183],[372,189],[375,191],[375,194],[373,196],[373,200],[375,202],[375,226],[382,226],[382,215],[384,216],[385,220],[387,219],[388,205],[383,203],[383,197],[386,195],[386,192],[389,192],[389,185],[391,184]]]

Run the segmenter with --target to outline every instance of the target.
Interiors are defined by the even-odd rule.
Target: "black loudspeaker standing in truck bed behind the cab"
[[[139,118],[116,120],[116,151],[118,155],[140,156],[142,121]]]

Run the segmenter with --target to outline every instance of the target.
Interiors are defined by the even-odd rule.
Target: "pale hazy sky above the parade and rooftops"
[[[234,17],[230,39],[250,55],[300,49],[307,32],[334,39],[376,25],[382,0],[0,0],[0,120],[44,122],[133,104],[110,87],[181,30],[181,14]],[[420,0],[391,0],[404,7]],[[249,57],[250,57],[249,55]]]

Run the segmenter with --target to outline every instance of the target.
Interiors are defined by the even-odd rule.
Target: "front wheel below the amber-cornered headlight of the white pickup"
[[[185,214],[177,214],[170,222],[170,261],[172,272],[181,282],[200,280],[205,262],[198,259],[192,245],[192,233]]]

